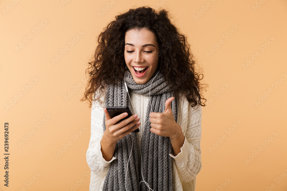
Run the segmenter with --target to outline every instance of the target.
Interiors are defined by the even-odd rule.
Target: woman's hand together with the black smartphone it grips
[[[104,108],[104,112],[106,115],[104,133],[110,141],[117,142],[131,132],[139,132],[139,117],[136,114],[132,115],[128,107],[107,107]],[[125,116],[125,113],[128,115]]]

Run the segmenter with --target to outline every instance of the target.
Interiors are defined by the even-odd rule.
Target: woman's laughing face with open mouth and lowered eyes
[[[125,34],[125,63],[138,84],[146,83],[158,68],[159,45],[147,29],[131,29]]]

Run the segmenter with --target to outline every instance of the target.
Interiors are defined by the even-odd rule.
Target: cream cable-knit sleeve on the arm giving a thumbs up
[[[187,113],[187,129],[184,133],[184,143],[181,152],[174,156],[169,154],[176,164],[179,178],[183,182],[190,182],[199,173],[201,163],[201,105],[191,107],[189,103]]]

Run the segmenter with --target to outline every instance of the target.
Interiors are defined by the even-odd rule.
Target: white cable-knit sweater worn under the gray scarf
[[[137,145],[139,150],[139,136],[141,136],[143,131],[141,127],[146,123],[146,121],[143,120],[145,120],[146,117],[147,106],[150,104],[149,96],[137,94],[133,91],[129,91],[129,95],[141,122],[139,127],[140,131],[137,133]],[[181,152],[177,156],[171,153],[169,154],[170,157],[174,159],[172,160],[174,191],[194,191],[196,175],[202,167],[200,149],[201,105],[197,104],[195,107],[191,107],[191,103],[187,101],[185,96],[182,96],[181,99],[178,100],[178,106],[177,123],[181,126],[185,139],[181,147]],[[91,138],[86,153],[87,163],[91,169],[90,191],[102,191],[110,163],[116,159],[113,156],[110,161],[106,161],[102,156],[100,141],[103,136],[103,108],[104,103],[99,105],[98,102],[92,102]],[[133,108],[131,112],[135,114]],[[139,153],[139,159],[140,158]],[[141,163],[141,161],[139,161],[139,163]]]

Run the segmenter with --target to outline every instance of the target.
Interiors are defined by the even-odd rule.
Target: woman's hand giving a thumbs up
[[[163,137],[170,137],[170,139],[174,139],[180,132],[182,133],[180,125],[178,125],[173,117],[172,109],[171,109],[171,102],[174,97],[170,97],[165,102],[165,111],[163,113],[150,113],[150,126],[152,127],[150,131],[155,133],[159,136]]]

